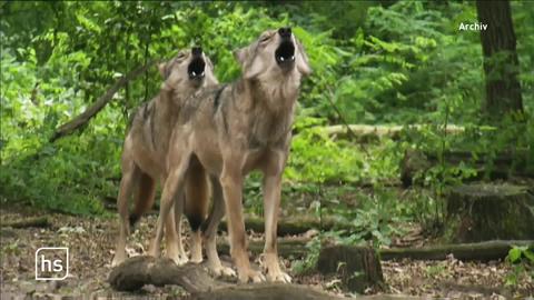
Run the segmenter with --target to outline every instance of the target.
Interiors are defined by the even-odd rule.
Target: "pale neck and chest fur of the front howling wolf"
[[[295,73],[286,78],[240,79],[238,89],[243,89],[241,103],[251,128],[249,146],[278,146],[287,139],[291,130],[295,104],[298,97],[300,78]]]

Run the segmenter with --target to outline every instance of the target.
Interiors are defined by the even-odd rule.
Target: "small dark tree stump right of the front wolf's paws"
[[[368,247],[332,246],[320,250],[317,270],[323,274],[340,274],[350,291],[382,288],[384,277],[377,253]]]

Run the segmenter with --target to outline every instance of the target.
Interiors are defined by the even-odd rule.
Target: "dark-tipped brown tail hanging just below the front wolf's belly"
[[[192,231],[197,231],[206,219],[209,204],[209,183],[206,170],[199,162],[189,166],[186,178],[184,213]]]

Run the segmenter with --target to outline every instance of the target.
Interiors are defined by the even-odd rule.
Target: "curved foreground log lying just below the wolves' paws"
[[[199,264],[178,267],[166,258],[129,258],[111,271],[108,282],[119,291],[135,291],[145,284],[162,287],[181,286],[196,300],[275,300],[275,299],[343,299],[315,290],[310,287],[281,283],[239,284],[215,280]]]

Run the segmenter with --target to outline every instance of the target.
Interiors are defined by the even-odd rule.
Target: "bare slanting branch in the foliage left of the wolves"
[[[56,141],[62,137],[66,137],[72,133],[75,130],[87,123],[92,117],[95,117],[106,104],[113,99],[113,96],[122,87],[125,87],[129,81],[136,79],[140,74],[145,73],[150,67],[152,67],[157,61],[148,62],[145,66],[137,67],[131,70],[126,76],[122,76],[117,80],[113,86],[111,86],[105,94],[102,94],[92,106],[87,108],[82,113],[75,117],[72,120],[60,126],[50,138],[50,142]]]

